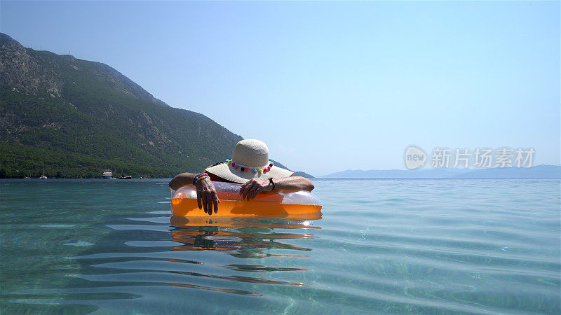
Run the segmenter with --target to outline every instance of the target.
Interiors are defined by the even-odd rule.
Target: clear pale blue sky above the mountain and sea
[[[560,2],[10,2],[1,31],[104,62],[314,175],[411,144],[559,164]]]

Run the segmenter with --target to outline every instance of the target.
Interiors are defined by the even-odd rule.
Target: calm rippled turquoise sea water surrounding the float
[[[166,180],[3,180],[0,310],[561,312],[559,180],[314,184],[318,220],[173,227]]]

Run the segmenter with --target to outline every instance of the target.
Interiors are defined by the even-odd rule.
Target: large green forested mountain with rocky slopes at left
[[[168,177],[230,158],[242,138],[115,69],[0,33],[0,177]],[[116,172],[115,172],[116,170]]]

